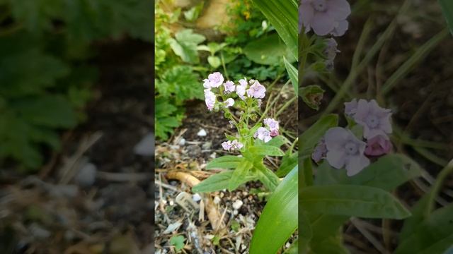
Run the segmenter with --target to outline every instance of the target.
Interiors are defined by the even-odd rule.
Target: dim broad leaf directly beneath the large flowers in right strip
[[[420,167],[405,155],[392,154],[379,158],[355,176],[347,176],[345,170],[333,169],[323,162],[316,170],[316,185],[351,184],[394,190],[422,173]]]

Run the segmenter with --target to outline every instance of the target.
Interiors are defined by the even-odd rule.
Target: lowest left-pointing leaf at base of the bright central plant
[[[227,189],[229,187],[229,179],[233,176],[233,171],[223,171],[217,174],[214,174],[205,181],[202,181],[201,183],[198,183],[196,186],[193,186],[192,191],[194,193],[210,193],[213,191],[222,191],[224,189]],[[245,176],[243,179],[241,179],[241,185],[242,183],[246,183],[248,181],[255,181],[256,176]]]

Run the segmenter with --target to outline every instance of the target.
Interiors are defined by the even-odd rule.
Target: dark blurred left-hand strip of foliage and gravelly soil
[[[0,0],[0,253],[151,253],[153,3]]]

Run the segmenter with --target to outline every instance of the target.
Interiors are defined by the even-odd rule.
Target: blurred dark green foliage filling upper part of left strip
[[[85,118],[95,41],[153,40],[147,0],[0,0],[0,165],[38,169]]]

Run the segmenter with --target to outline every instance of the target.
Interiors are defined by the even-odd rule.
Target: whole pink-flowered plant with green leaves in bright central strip
[[[289,141],[280,135],[279,122],[260,114],[266,88],[258,80],[243,78],[234,83],[225,80],[222,73],[214,72],[203,80],[205,104],[210,111],[223,111],[231,128],[237,135],[226,135],[222,143],[224,150],[239,152],[241,155],[226,155],[213,159],[207,169],[234,169],[210,176],[197,186],[194,192],[212,192],[228,188],[233,191],[247,181],[259,180],[273,191],[280,179],[263,164],[266,156],[284,156],[280,146]],[[239,118],[231,112],[239,110]],[[267,112],[267,111],[266,111]]]

